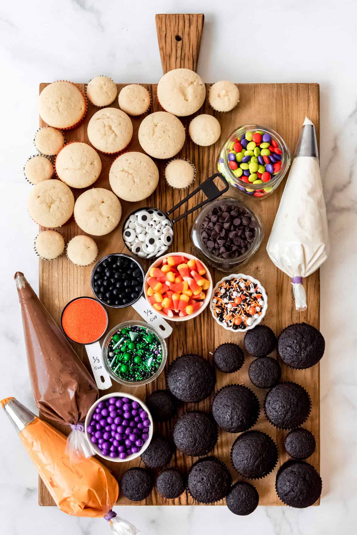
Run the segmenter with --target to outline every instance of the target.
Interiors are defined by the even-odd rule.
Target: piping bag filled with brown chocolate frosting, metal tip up
[[[24,274],[17,272],[14,279],[36,407],[55,422],[71,426],[67,452],[72,463],[81,462],[94,455],[82,422],[98,398],[98,388]]]

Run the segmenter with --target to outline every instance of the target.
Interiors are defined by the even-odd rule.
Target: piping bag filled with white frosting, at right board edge
[[[297,310],[307,309],[303,277],[320,268],[329,252],[316,131],[306,117],[267,244],[271,261],[292,277]]]

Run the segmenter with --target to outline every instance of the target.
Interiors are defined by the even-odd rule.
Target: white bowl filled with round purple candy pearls
[[[106,394],[90,407],[85,434],[94,452],[117,463],[139,457],[153,438],[153,418],[132,394]]]

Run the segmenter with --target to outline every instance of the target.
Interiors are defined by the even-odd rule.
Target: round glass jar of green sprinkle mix
[[[166,342],[158,330],[140,321],[112,328],[102,346],[109,375],[125,386],[151,383],[163,371],[167,354]]]

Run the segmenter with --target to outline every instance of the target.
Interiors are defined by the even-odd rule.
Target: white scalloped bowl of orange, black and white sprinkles
[[[265,316],[268,296],[259,280],[232,274],[216,284],[209,308],[218,325],[227,331],[249,331]]]

